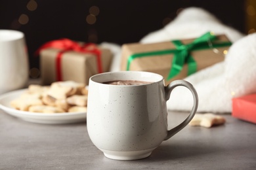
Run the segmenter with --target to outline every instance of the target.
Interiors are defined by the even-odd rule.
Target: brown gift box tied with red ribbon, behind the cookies
[[[109,71],[113,57],[109,49],[70,39],[47,42],[37,53],[43,85],[66,80],[88,84],[91,76]]]

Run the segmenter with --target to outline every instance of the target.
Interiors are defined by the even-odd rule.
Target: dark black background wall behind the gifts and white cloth
[[[28,5],[35,5],[32,8]],[[96,22],[86,20],[96,6]],[[68,38],[84,42],[138,42],[171,22],[186,7],[202,7],[221,22],[242,33],[245,27],[244,0],[0,0],[0,29],[25,33],[30,69],[39,67],[33,53],[47,41]],[[26,16],[25,23],[21,16]],[[24,18],[24,17],[23,17]]]

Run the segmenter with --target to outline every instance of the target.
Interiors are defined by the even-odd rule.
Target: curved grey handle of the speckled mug
[[[190,84],[190,82],[187,82],[185,80],[175,80],[171,82],[168,86],[165,86],[165,100],[169,100],[171,91],[173,91],[173,89],[177,86],[184,86],[188,88],[188,90],[190,90],[194,98],[194,105],[188,117],[181,124],[167,131],[167,137],[165,137],[164,140],[169,139],[170,137],[178,133],[181,129],[183,129],[192,120],[192,118],[196,114],[196,110],[198,109],[198,93],[196,92],[194,86]]]

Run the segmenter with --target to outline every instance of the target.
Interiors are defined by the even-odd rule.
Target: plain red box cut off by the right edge
[[[232,116],[256,124],[256,93],[233,98]]]

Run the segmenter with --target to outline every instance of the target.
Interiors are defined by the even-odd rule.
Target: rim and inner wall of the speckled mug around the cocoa
[[[142,79],[139,79],[139,78],[134,78],[132,80],[140,80],[140,81],[147,81],[147,82],[150,82],[148,84],[133,84],[133,85],[129,85],[129,86],[146,86],[146,85],[149,85],[149,84],[154,84],[154,83],[158,83],[158,82],[161,82],[163,81],[163,76],[159,75],[158,73],[152,73],[152,72],[149,72],[149,71],[109,71],[109,72],[105,72],[105,73],[99,73],[99,74],[96,74],[96,75],[93,75],[89,78],[89,81],[92,81],[92,82],[95,82],[97,84],[103,84],[103,85],[106,85],[106,86],[116,86],[114,84],[104,84],[103,82],[110,82],[110,81],[115,81],[115,78],[114,79],[110,79],[110,80],[95,80],[98,76],[104,76],[104,75],[110,75],[110,74],[113,74],[113,75],[120,75],[120,74],[140,74],[140,75],[154,75],[156,77],[156,79],[158,80],[154,80],[154,81],[150,81],[150,80],[142,80]],[[119,79],[116,79],[116,80],[119,80]],[[127,80],[126,79],[123,79],[123,80]],[[128,80],[131,80],[131,79],[128,79]],[[119,87],[120,86],[127,86],[127,85],[118,85]]]

